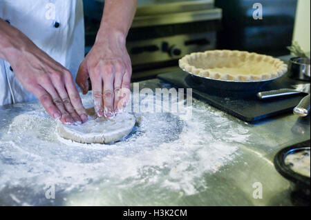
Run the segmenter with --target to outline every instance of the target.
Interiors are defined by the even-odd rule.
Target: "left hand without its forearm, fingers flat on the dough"
[[[13,70],[26,90],[35,94],[48,114],[62,123],[88,120],[73,76],[39,48],[22,52]]]

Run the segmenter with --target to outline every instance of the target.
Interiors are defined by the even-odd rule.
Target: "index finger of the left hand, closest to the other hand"
[[[68,96],[70,99],[71,104],[73,105],[73,108],[75,109],[75,112],[79,114],[79,117],[76,115],[76,117],[82,119],[82,123],[88,121],[88,114],[86,113],[85,108],[83,107],[81,97],[79,96],[79,92],[77,91],[77,88],[75,87],[75,83],[73,82],[73,77],[71,75],[65,76],[65,88],[68,92]],[[73,113],[75,113],[73,112]]]

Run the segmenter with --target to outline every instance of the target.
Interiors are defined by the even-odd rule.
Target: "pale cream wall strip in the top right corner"
[[[305,52],[310,52],[310,0],[298,1],[293,39]]]

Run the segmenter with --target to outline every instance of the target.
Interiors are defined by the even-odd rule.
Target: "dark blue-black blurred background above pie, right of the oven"
[[[253,17],[256,3],[262,5],[263,19]],[[223,9],[218,48],[275,57],[289,54],[286,47],[292,43],[296,5],[296,0],[215,0],[215,6]]]

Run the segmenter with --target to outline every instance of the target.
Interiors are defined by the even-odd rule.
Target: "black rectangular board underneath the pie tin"
[[[260,90],[253,91],[229,91],[206,88],[196,83],[190,74],[183,71],[159,74],[158,78],[173,84],[176,88],[192,88],[193,97],[196,99],[206,101],[211,106],[248,122],[265,119],[284,112],[292,112],[293,108],[306,95],[301,93],[266,100],[260,100],[256,97],[256,93],[260,91],[290,88],[291,85],[303,83],[290,79],[287,75],[271,81]]]

